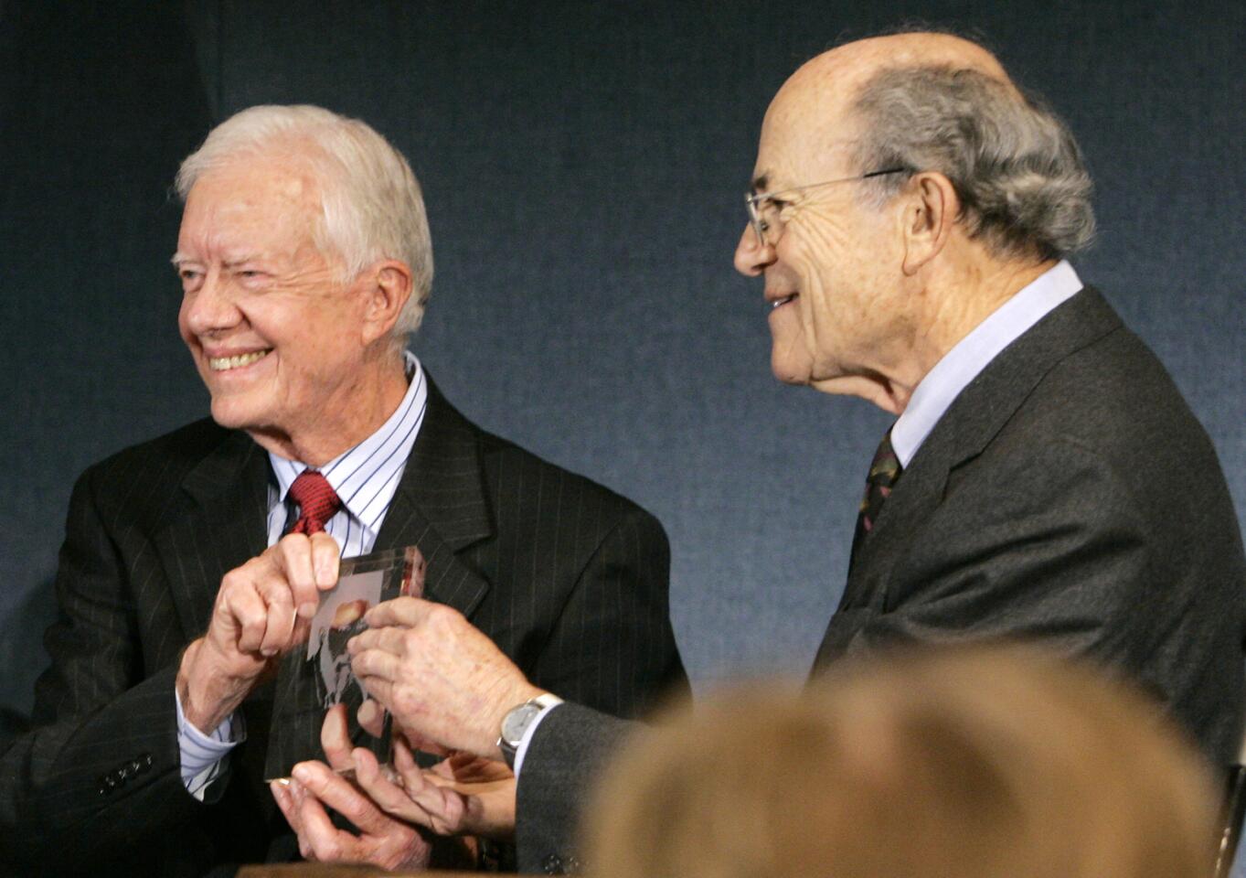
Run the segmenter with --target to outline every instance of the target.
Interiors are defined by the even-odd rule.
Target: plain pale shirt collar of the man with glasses
[[[900,465],[908,465],[961,390],[1001,350],[1079,289],[1082,279],[1078,273],[1067,261],[1060,259],[948,350],[913,390],[903,414],[891,428],[891,446],[896,450]]]

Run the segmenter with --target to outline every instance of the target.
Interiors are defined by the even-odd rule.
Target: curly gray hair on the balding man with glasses
[[[938,171],[956,187],[969,237],[996,256],[1060,258],[1094,237],[1082,151],[1042,97],[976,70],[887,67],[861,86],[854,109],[862,172]],[[887,175],[863,186],[881,206],[905,182]]]

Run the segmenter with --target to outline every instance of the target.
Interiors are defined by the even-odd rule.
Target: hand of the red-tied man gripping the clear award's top
[[[208,632],[182,656],[177,692],[186,718],[211,733],[274,660],[304,642],[320,591],[338,582],[338,543],[288,534],[221,580]]]

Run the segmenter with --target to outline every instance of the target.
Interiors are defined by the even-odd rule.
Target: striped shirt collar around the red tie
[[[424,417],[429,397],[429,383],[424,375],[424,367],[410,350],[404,350],[402,357],[406,364],[407,388],[394,414],[370,437],[319,468],[329,485],[341,498],[341,505],[356,519],[361,518],[363,506],[371,499],[370,496],[356,496],[354,481],[358,480],[358,474],[365,469],[371,474],[383,471],[383,475],[389,478],[380,479],[379,484],[396,488],[396,474],[406,465],[407,455],[391,454],[381,458],[381,451],[386,445],[392,444],[395,438],[409,434],[411,425],[419,424]],[[410,438],[410,441],[414,441],[414,437]],[[402,444],[409,446],[410,441]],[[290,485],[303,470],[308,469],[308,465],[302,460],[288,460],[272,451],[268,453],[268,459],[273,466],[273,475],[277,476],[278,501],[284,503]],[[370,463],[374,465],[369,466]]]

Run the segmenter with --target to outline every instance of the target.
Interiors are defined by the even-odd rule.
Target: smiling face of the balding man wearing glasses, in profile
[[[862,172],[851,162],[852,120],[840,106],[844,97],[807,79],[797,72],[766,112],[755,191],[781,192]],[[819,384],[870,375],[885,368],[905,335],[897,213],[862,203],[858,186],[840,182],[782,193],[766,243],[758,244],[751,227],[740,237],[736,268],[765,279],[771,369],[780,380]]]

